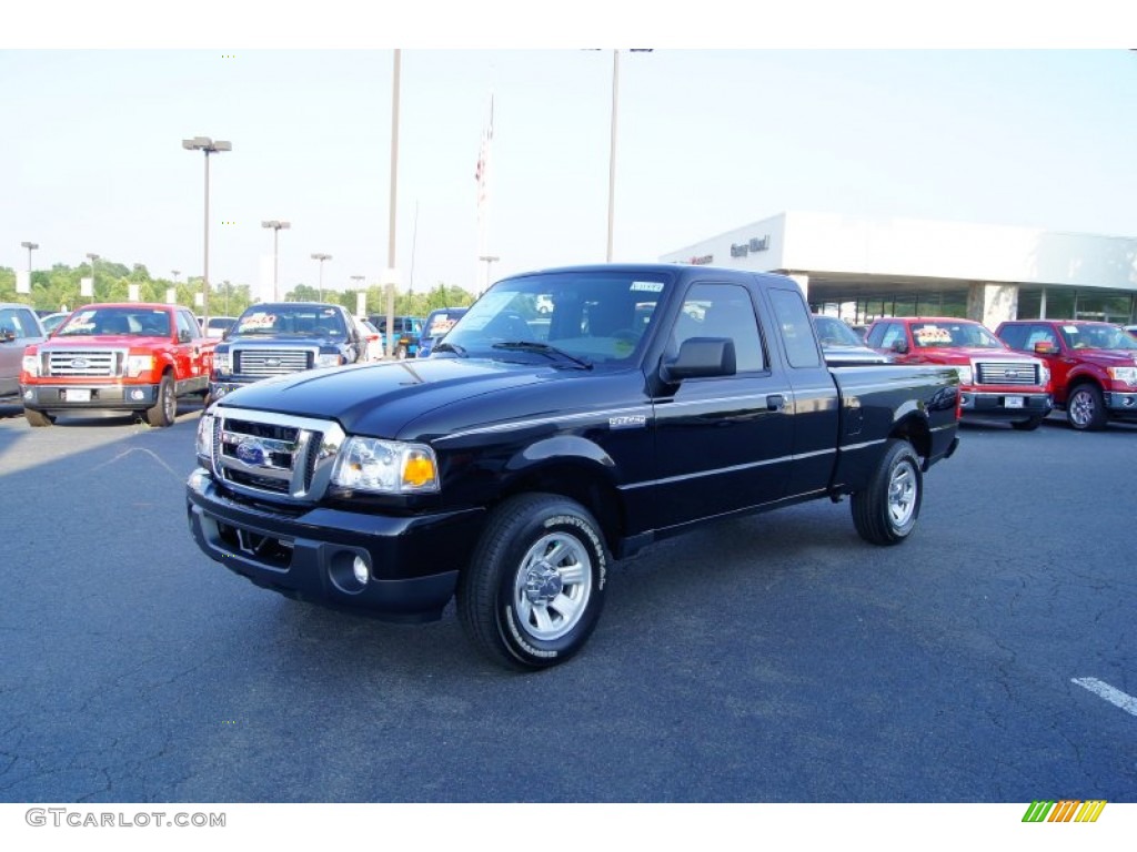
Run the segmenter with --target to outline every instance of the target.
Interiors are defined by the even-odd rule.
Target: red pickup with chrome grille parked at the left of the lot
[[[188,308],[88,304],[24,350],[24,416],[50,426],[61,414],[134,411],[151,426],[169,426],[180,395],[208,393],[215,344]]]

